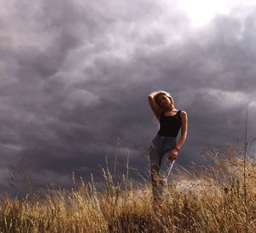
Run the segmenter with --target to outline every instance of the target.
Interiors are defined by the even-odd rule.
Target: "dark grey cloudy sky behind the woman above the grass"
[[[176,166],[255,136],[253,1],[6,0],[0,3],[0,190],[26,161],[32,185],[98,180],[106,156],[147,168],[164,89],[189,117]]]

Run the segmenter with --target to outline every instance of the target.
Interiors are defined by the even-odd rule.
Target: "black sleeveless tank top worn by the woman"
[[[165,116],[162,112],[160,117],[160,130],[157,134],[166,137],[177,137],[178,131],[181,128],[180,112],[181,111],[177,111],[174,116]]]

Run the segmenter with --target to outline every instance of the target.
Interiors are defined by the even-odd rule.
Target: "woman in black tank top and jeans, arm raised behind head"
[[[172,96],[166,91],[149,94],[148,102],[160,122],[160,129],[148,150],[153,198],[156,204],[160,204],[166,196],[167,179],[177,153],[187,137],[188,117],[185,111],[175,108]],[[180,128],[181,137],[177,141]]]

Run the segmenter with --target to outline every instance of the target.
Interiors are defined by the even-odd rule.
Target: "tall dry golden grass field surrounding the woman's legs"
[[[256,162],[232,156],[212,166],[179,168],[164,205],[151,204],[151,187],[102,169],[103,192],[83,180],[42,198],[1,200],[1,232],[256,232]],[[244,169],[245,168],[245,169]],[[245,183],[244,183],[245,181]]]

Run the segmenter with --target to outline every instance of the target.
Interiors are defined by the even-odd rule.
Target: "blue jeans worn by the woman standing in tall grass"
[[[169,156],[175,145],[176,137],[156,135],[148,148],[154,201],[162,200],[166,196],[167,179],[175,162],[171,162]]]

